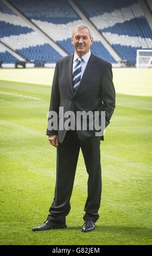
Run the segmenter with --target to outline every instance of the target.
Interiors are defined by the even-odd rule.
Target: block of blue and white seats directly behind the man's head
[[[41,28],[67,54],[73,53],[71,31],[73,27],[84,22],[66,0],[46,0],[45,4],[41,0],[27,0],[24,2],[11,0],[9,2]],[[32,13],[31,10],[34,10],[34,12]],[[98,39],[95,39],[92,45],[92,52],[112,63],[116,63],[116,60]]]

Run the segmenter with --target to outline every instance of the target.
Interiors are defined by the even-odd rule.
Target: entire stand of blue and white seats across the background
[[[8,8],[6,3],[18,10]],[[79,23],[86,23],[69,4],[71,0],[0,0],[0,40],[27,62],[55,63],[65,54],[73,53],[71,31]],[[127,66],[135,66],[137,49],[152,48],[152,33],[143,10],[137,0],[73,0],[79,10],[92,23],[100,35],[117,52]],[[151,10],[152,1],[146,0]],[[25,19],[23,19],[23,17]],[[28,22],[26,22],[28,19]],[[38,30],[34,29],[34,25]],[[39,31],[42,32],[39,33]],[[98,34],[99,34],[98,33]],[[45,36],[55,42],[49,44]],[[109,48],[105,48],[97,33],[92,31],[92,52],[115,64]],[[0,44],[0,62],[14,63],[13,56]],[[58,48],[56,49],[58,45]]]

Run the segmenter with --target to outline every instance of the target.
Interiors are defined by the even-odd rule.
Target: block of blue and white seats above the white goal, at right
[[[135,65],[137,49],[152,48],[151,29],[136,0],[74,2],[128,66]]]

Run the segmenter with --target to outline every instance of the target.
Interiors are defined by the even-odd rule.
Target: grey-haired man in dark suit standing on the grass
[[[74,114],[83,111],[91,111],[93,114],[103,111],[106,127],[115,109],[112,66],[91,53],[93,38],[87,26],[75,27],[71,41],[75,49],[74,54],[59,59],[56,63],[49,111],[56,113],[61,126],[68,119],[67,115],[65,117],[67,111]],[[60,113],[60,108],[63,108],[63,113]],[[57,129],[51,129],[50,120],[51,116],[48,119],[47,135],[50,144],[57,148],[55,196],[45,223],[32,230],[66,228],[66,216],[71,208],[70,198],[81,148],[88,173],[85,223],[81,231],[92,231],[99,218],[102,193],[100,139],[103,139],[103,136],[96,136],[96,129],[93,126],[93,130],[90,130],[88,124],[86,129],[81,125],[77,129],[80,120],[75,117],[75,129],[71,129],[71,123],[63,129],[59,124]]]

